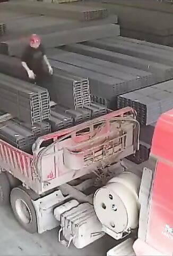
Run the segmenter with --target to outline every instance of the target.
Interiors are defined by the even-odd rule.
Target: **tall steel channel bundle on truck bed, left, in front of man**
[[[34,124],[50,118],[46,89],[0,74],[0,109],[23,122]]]

